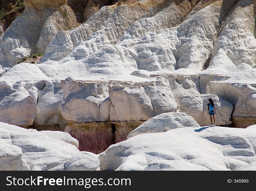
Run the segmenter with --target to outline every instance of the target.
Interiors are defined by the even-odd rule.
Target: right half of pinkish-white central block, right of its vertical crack
[[[109,111],[111,121],[146,121],[160,113],[177,110],[173,95],[152,85],[144,87],[112,86],[109,89],[109,99],[112,104]]]

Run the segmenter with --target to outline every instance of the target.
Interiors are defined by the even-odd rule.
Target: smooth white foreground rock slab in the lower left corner
[[[66,162],[70,169],[96,170],[97,157],[77,147],[77,140],[67,133],[38,132],[0,122],[1,170],[49,170]]]

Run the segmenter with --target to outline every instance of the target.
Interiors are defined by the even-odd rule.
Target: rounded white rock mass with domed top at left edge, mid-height
[[[2,122],[29,128],[38,125],[32,127],[38,130],[64,131],[67,124],[59,109],[64,93],[58,80],[48,78],[36,65],[30,63],[21,63],[11,69],[3,68],[2,71]]]

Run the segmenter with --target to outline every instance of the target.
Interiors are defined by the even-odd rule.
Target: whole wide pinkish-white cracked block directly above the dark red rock
[[[146,121],[155,115],[177,110],[170,88],[158,86],[158,81],[67,79],[62,81],[62,87],[61,113],[68,121]]]

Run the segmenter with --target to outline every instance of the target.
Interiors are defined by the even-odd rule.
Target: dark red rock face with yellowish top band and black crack
[[[111,144],[127,139],[128,133],[137,128],[143,121],[126,122],[68,122],[65,132],[79,141],[80,151],[101,153]]]

